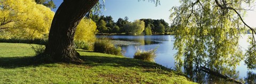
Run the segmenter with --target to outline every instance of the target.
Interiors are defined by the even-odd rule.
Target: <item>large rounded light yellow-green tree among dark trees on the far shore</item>
[[[132,35],[140,35],[145,29],[145,22],[135,20],[132,23],[125,24],[124,28],[126,33],[132,32]]]

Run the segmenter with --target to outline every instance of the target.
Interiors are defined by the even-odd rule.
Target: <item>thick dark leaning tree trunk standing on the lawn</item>
[[[63,0],[54,15],[45,54],[57,62],[82,62],[75,51],[74,35],[78,23],[99,0]]]

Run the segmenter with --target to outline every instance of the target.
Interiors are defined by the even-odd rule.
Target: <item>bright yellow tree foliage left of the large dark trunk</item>
[[[1,38],[47,38],[54,12],[33,0],[0,1]]]

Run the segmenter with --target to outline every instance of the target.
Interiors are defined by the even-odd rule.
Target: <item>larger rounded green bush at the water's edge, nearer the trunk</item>
[[[99,38],[94,43],[94,52],[106,53],[113,55],[122,55],[121,47],[115,47],[114,44],[110,42],[109,38]]]

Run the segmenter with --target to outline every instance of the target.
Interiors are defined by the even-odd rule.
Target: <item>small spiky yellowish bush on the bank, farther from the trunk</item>
[[[149,51],[141,51],[138,48],[133,58],[138,60],[155,62],[154,58],[156,57],[156,50],[157,50],[157,47],[155,49],[150,49]]]

